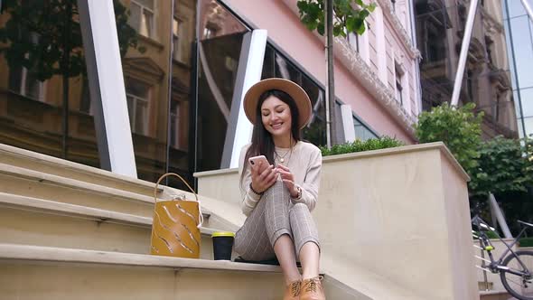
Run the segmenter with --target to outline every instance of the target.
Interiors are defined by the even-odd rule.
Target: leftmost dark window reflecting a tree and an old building
[[[98,166],[93,119],[79,112],[85,60],[77,2],[62,4],[2,3],[0,143]]]

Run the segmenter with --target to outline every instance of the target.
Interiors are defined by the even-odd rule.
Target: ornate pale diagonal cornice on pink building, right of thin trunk
[[[333,52],[337,59],[350,70],[351,75],[360,82],[360,84],[376,99],[379,105],[385,108],[388,114],[397,121],[407,134],[415,138],[413,124],[416,123],[416,117],[407,113],[395,99],[392,91],[388,89],[369,65],[363,61],[358,52],[355,52],[349,42],[343,38],[335,38]]]

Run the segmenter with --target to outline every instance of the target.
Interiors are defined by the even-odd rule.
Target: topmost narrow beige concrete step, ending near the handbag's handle
[[[145,182],[117,173],[77,164],[57,157],[0,144],[0,164],[30,169],[66,177],[84,183],[98,184],[117,190],[139,193],[148,197],[154,194],[154,183]],[[161,192],[162,189],[159,189]]]

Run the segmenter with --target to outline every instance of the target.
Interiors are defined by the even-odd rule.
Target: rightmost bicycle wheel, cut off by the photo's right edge
[[[519,250],[503,259],[500,270],[501,283],[510,295],[519,300],[533,300],[533,251]],[[516,274],[513,274],[514,272]]]

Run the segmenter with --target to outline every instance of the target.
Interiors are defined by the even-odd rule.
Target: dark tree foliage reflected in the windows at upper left
[[[4,0],[10,18],[0,28],[0,53],[10,68],[24,67],[38,80],[85,73],[83,42],[76,0]],[[127,24],[126,7],[114,1],[120,53],[136,48],[136,31]]]

